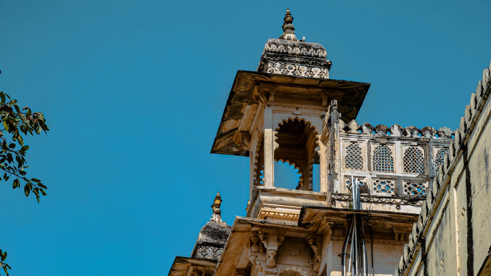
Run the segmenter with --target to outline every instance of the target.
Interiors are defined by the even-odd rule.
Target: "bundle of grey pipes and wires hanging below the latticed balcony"
[[[360,200],[360,186],[362,184],[358,181],[358,178],[353,179],[351,177],[350,190],[353,196],[353,209],[361,210]],[[342,276],[369,276],[368,274],[368,261],[367,261],[367,248],[365,244],[365,233],[363,230],[363,219],[361,214],[351,214],[350,225],[343,244],[343,252],[341,255],[341,273]],[[372,237],[372,233],[370,232]],[[348,253],[348,247],[350,251]],[[372,251],[372,276],[373,272],[373,241],[371,245]],[[348,263],[346,263],[346,257],[349,257]]]

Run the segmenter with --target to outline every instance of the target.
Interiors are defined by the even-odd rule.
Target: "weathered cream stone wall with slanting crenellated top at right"
[[[491,274],[490,89],[486,68],[427,193],[396,276]]]

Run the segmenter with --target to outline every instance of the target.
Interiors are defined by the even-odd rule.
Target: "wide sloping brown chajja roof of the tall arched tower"
[[[259,105],[258,90],[274,89],[274,101],[291,98],[292,103],[300,107],[322,107],[322,97],[327,97],[327,102],[337,100],[341,118],[349,122],[356,118],[369,87],[370,83],[365,82],[239,70],[211,153],[248,156],[248,150],[235,143],[234,137],[238,131],[249,131]]]

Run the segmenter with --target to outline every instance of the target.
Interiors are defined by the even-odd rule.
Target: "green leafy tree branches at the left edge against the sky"
[[[24,138],[27,134],[34,136],[41,132],[49,131],[46,120],[41,112],[31,112],[28,106],[22,109],[18,101],[11,99],[7,94],[0,92],[0,180],[8,181],[12,178],[12,188],[24,186],[26,197],[32,192],[39,203],[39,195],[46,196],[45,189],[48,189],[41,180],[37,178],[27,178],[26,152],[29,146],[24,145]],[[7,269],[10,266],[4,263],[7,252],[0,250],[0,265],[8,276]]]

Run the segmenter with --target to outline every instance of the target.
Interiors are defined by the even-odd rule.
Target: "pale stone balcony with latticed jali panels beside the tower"
[[[357,178],[363,184],[364,209],[419,214],[454,132],[446,127],[374,127],[355,120],[346,124],[338,118],[327,119],[333,124],[323,135],[332,152],[327,159],[332,187],[327,206],[348,208],[349,186]]]

